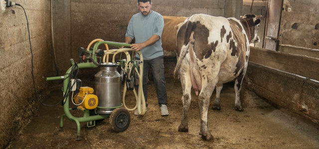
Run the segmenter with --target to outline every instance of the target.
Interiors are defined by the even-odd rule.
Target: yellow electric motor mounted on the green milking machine
[[[94,90],[92,87],[80,87],[80,92],[73,97],[78,108],[91,110],[98,106],[98,96],[92,94],[93,92]]]

